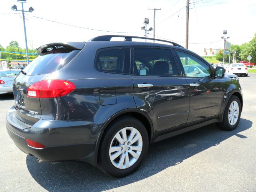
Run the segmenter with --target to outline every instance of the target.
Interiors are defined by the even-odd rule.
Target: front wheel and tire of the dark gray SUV
[[[235,106],[235,109],[238,109],[238,111],[234,109],[232,112],[231,105],[233,105],[233,108],[234,108],[234,104],[236,104],[236,106],[238,107],[238,108],[236,108],[236,106]],[[241,109],[242,109],[241,102],[240,102],[239,98],[235,95],[231,96],[230,100],[228,100],[228,103],[226,105],[224,115],[223,115],[223,120],[221,123],[218,123],[218,126],[221,129],[227,130],[227,131],[236,129],[236,127],[238,126],[239,121],[240,121]],[[234,118],[232,118],[232,116],[233,116],[232,114],[234,114]],[[231,120],[229,119],[229,115],[231,116],[231,118],[230,118]],[[237,116],[237,118],[236,118],[236,116]]]

